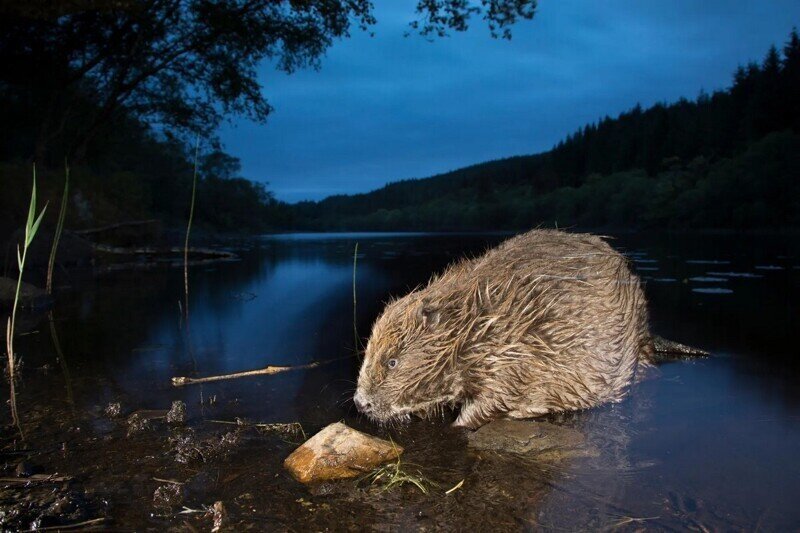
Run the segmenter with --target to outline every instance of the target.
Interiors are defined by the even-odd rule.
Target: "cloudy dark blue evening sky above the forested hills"
[[[413,0],[376,0],[374,37],[336,42],[319,71],[260,80],[275,112],[221,132],[243,175],[290,202],[547,150],[637,102],[726,87],[800,25],[798,0],[541,0],[495,40],[404,37]]]

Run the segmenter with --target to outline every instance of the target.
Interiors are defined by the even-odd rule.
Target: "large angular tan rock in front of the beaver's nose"
[[[297,481],[317,483],[360,476],[401,453],[403,448],[392,442],[337,422],[293,451],[283,466]]]

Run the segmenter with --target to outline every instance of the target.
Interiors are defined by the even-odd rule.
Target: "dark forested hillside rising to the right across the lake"
[[[800,227],[800,38],[696,100],[636,106],[552,150],[294,206],[311,230]]]

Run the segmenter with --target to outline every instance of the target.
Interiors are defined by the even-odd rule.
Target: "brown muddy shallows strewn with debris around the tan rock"
[[[428,492],[413,483],[387,489],[368,471],[306,487],[283,464],[302,442],[299,433],[217,423],[197,405],[188,411],[185,422],[168,420],[166,409],[126,413],[124,406],[62,412],[61,422],[55,412],[29,413],[24,443],[3,434],[3,480],[19,481],[0,480],[0,525],[209,530],[216,520],[226,531],[458,530],[491,513],[497,530],[514,530],[534,523],[518,510],[528,509],[528,516],[542,503],[560,468],[530,457],[469,453],[464,433],[441,424],[419,422],[391,433],[360,425],[408,443],[398,468],[424,479]],[[34,472],[40,481],[26,477]],[[531,484],[533,472],[538,479]],[[524,493],[511,490],[523,478]]]

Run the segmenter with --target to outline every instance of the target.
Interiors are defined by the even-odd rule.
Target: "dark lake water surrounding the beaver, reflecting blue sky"
[[[175,375],[352,353],[356,242],[357,326],[366,336],[382,302],[502,238],[265,238],[240,262],[191,271],[188,337],[180,269],[72,274],[64,279],[72,288],[53,309],[55,336],[46,315],[21,322],[27,334],[17,341],[24,358],[18,402],[26,439],[5,429],[2,458],[6,477],[25,461],[73,480],[2,489],[0,520],[19,528],[37,517],[45,526],[106,517],[104,527],[207,530],[211,521],[202,513],[178,511],[220,500],[234,530],[800,528],[800,243],[793,237],[614,241],[646,281],[652,329],[713,356],[660,366],[621,404],[554,419],[583,432],[597,457],[545,464],[475,452],[445,421],[387,434],[347,401],[356,358],[202,387],[170,385]],[[173,400],[187,403],[189,429],[156,420],[128,435],[124,418],[103,414],[109,402],[120,402],[127,415],[166,409]],[[425,495],[345,481],[309,491],[281,466],[300,437],[212,422],[236,418],[298,421],[308,433],[345,420],[391,436],[406,448],[404,460],[438,487]],[[198,444],[202,454],[176,460],[177,438],[189,434],[207,444],[228,432],[236,441],[225,453]],[[163,483],[153,478],[182,482],[183,502],[154,506]],[[461,489],[444,494],[461,480]],[[66,511],[53,509],[53,492],[66,495]]]

